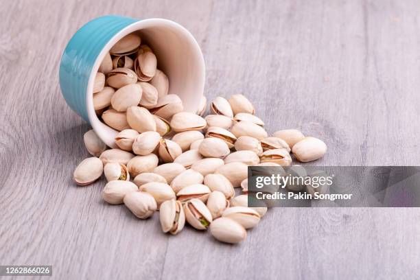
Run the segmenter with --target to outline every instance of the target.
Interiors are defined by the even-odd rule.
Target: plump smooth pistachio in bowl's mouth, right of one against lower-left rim
[[[148,109],[131,106],[127,110],[128,125],[138,132],[156,131],[156,121]]]

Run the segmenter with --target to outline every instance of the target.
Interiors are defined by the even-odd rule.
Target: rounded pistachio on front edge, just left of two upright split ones
[[[157,209],[156,200],[145,191],[132,191],[124,196],[124,205],[140,219],[147,219]]]

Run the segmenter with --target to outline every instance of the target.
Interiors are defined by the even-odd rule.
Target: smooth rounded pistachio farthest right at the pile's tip
[[[327,145],[318,138],[305,137],[294,144],[292,152],[298,161],[307,163],[323,157],[325,152],[327,152]]]

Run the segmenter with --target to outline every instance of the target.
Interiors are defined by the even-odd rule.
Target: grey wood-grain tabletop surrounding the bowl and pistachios
[[[420,165],[416,0],[3,0],[0,264],[52,264],[54,279],[419,279],[419,209],[273,209],[229,246],[106,205],[104,180],[75,187],[89,126],[65,104],[58,65],[104,14],[187,27],[205,95],[244,93],[270,132],[324,139],[316,164]]]

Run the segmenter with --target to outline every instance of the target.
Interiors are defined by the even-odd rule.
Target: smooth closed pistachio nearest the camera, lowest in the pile
[[[229,218],[218,218],[210,225],[211,235],[220,242],[235,244],[246,239],[246,230],[243,226]]]

